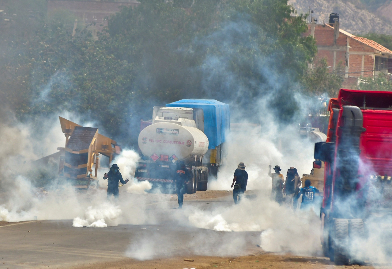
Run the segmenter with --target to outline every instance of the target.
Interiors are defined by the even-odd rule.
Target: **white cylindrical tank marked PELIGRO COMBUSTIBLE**
[[[208,138],[196,127],[175,123],[154,123],[142,130],[138,139],[142,153],[154,161],[181,161],[204,155]]]

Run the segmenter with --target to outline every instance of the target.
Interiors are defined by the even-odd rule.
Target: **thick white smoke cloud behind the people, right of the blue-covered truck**
[[[269,165],[279,165],[284,176],[290,167],[297,168],[299,175],[309,174],[314,160],[314,143],[300,138],[296,126],[275,131],[260,133],[260,130],[244,127],[241,133],[231,132],[224,165],[216,180],[209,179],[208,189],[231,190],[233,174],[240,162],[245,163],[248,172],[247,190],[272,187],[272,179],[268,176]]]

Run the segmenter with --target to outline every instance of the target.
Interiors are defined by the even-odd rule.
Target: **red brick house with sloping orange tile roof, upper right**
[[[343,88],[355,88],[361,77],[392,73],[392,51],[373,40],[339,29],[338,20],[330,19],[324,25],[313,20],[308,24],[307,35],[313,35],[316,40],[318,53],[314,62],[325,58],[331,70],[340,67],[344,71]]]

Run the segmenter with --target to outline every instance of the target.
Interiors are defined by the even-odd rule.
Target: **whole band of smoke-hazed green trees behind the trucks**
[[[303,36],[306,16],[287,0],[139,2],[111,16],[95,41],[86,29],[72,37],[69,14],[40,11],[27,33],[16,20],[18,36],[8,32],[0,58],[2,97],[20,118],[80,113],[113,138],[123,135],[123,144],[136,141],[152,106],[181,98],[214,98],[253,114],[266,99],[290,120],[298,108],[292,92],[316,45]],[[309,92],[319,94],[310,85],[321,80],[310,81]]]

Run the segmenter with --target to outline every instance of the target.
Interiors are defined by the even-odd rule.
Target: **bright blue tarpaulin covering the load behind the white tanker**
[[[204,134],[212,149],[226,141],[225,133],[230,128],[229,105],[212,99],[183,99],[166,104],[169,107],[202,108],[204,114]]]

